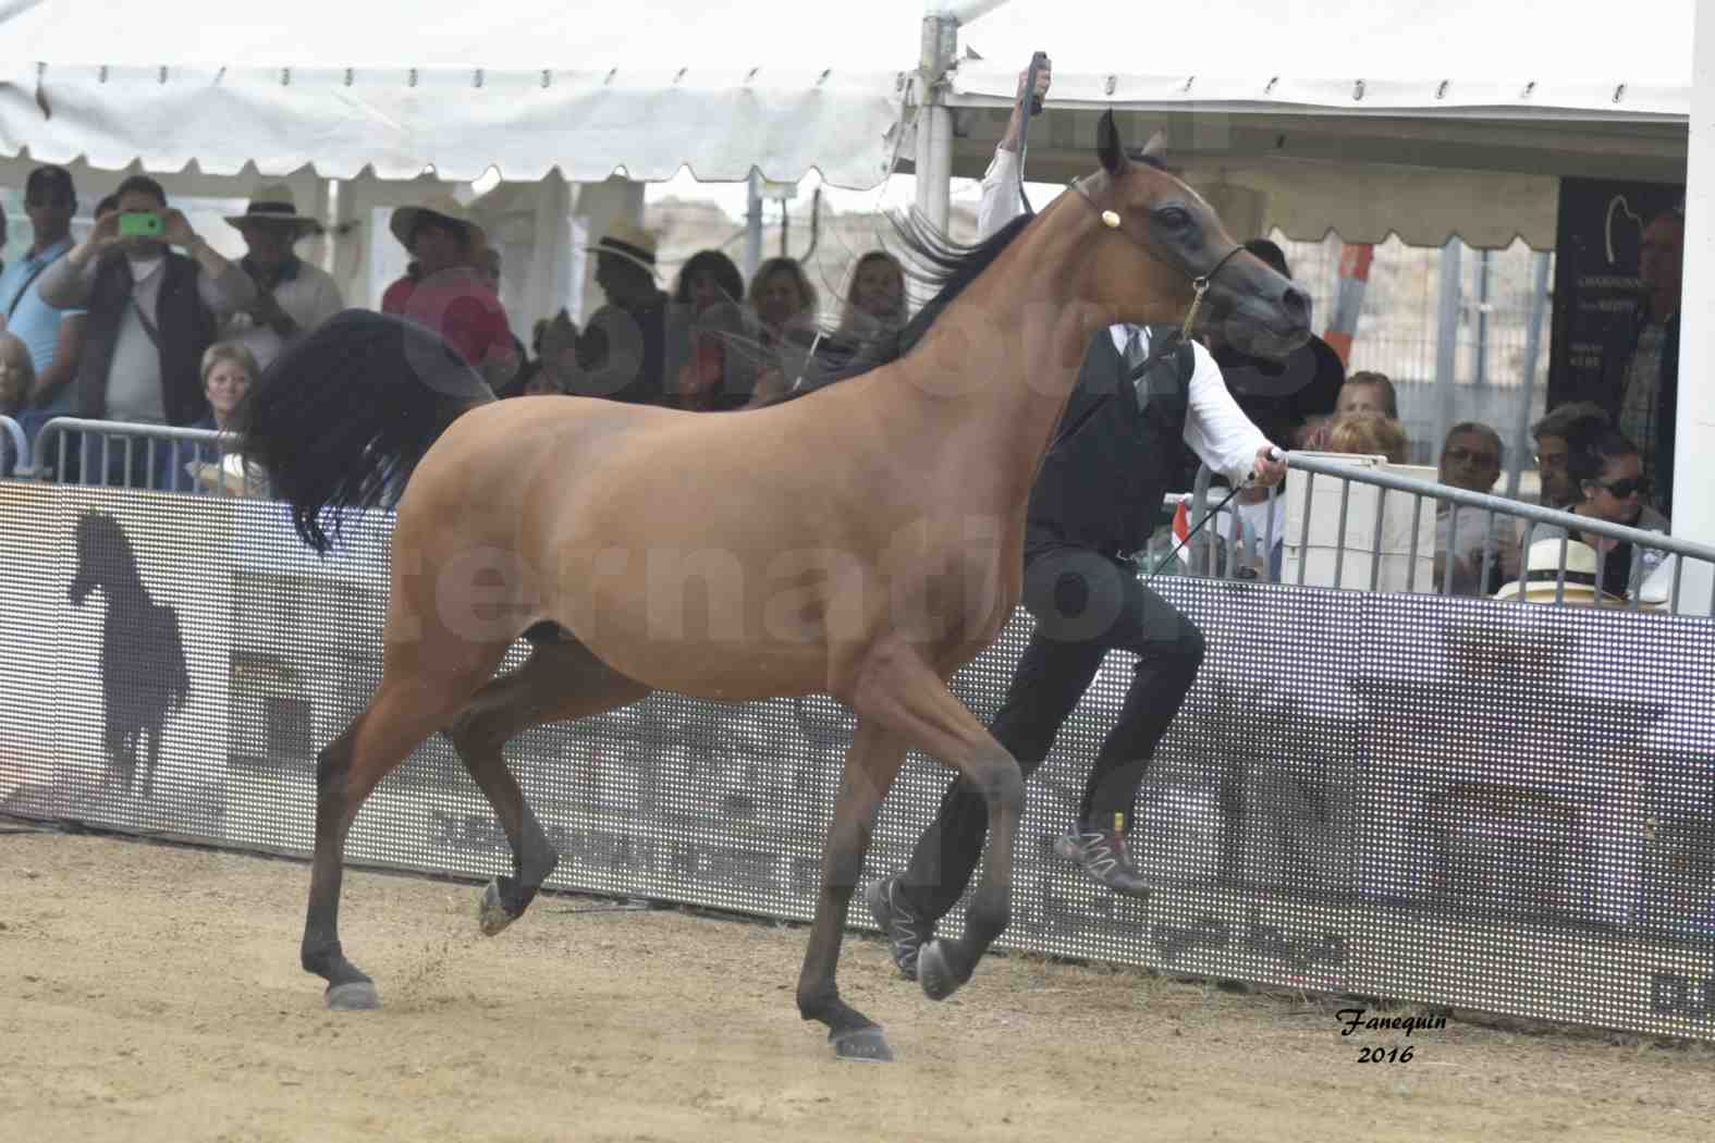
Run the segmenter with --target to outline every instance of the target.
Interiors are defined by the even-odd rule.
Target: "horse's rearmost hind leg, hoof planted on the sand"
[[[439,651],[439,661],[437,661]],[[302,963],[328,982],[329,1008],[376,1008],[376,984],[340,948],[345,836],[364,799],[494,673],[506,644],[424,643],[388,658],[369,708],[316,763],[316,857]]]

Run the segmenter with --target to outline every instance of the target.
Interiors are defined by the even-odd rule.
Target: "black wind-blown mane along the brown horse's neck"
[[[923,339],[930,326],[940,319],[942,312],[959,298],[966,288],[986,271],[1000,252],[1012,245],[1034,216],[1020,214],[983,242],[966,245],[954,242],[919,214],[900,221],[894,216],[894,231],[916,262],[906,272],[935,290],[935,296],[923,303],[916,317],[900,329],[883,331],[870,338],[852,339],[849,336],[830,336],[818,346],[816,363],[821,367],[815,384],[785,392],[767,404],[796,401],[797,398],[820,392],[837,380],[859,377],[911,353]]]

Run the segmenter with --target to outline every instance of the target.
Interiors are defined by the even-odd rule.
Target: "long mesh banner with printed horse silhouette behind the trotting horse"
[[[316,752],[381,677],[391,519],[328,560],[273,504],[3,483],[0,519],[0,807],[307,855]],[[1158,891],[1116,898],[1051,852],[1130,684],[1113,655],[1029,783],[1002,944],[1715,1035],[1715,624],[1154,586],[1207,641],[1137,804]],[[955,680],[978,716],[1029,627],[1020,612]],[[808,920],[851,733],[827,697],[655,694],[508,759],[563,853],[552,888]],[[947,783],[907,764],[871,876],[904,865]],[[441,737],[376,790],[346,857],[509,871]]]

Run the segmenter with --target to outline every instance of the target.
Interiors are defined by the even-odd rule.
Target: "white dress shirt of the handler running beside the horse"
[[[1002,226],[1024,212],[1019,200],[1019,154],[1017,151],[995,149],[995,159],[983,175],[983,200],[976,211],[978,238],[988,238]],[[1144,351],[1149,351],[1149,331],[1135,326],[1110,326],[1120,356],[1132,339],[1134,329],[1142,339]],[[1185,411],[1185,444],[1211,470],[1223,473],[1235,487],[1250,478],[1257,464],[1257,449],[1269,446],[1269,439],[1252,423],[1238,401],[1226,389],[1221,367],[1214,363],[1209,351],[1199,343],[1192,343],[1195,367],[1190,375],[1188,408]],[[1140,380],[1139,380],[1140,386]],[[1139,387],[1139,403],[1144,392]]]

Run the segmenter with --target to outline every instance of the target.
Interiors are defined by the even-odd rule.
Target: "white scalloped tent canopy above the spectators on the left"
[[[329,178],[755,166],[870,189],[894,154],[919,17],[914,0],[808,22],[691,0],[0,0],[0,151]]]

